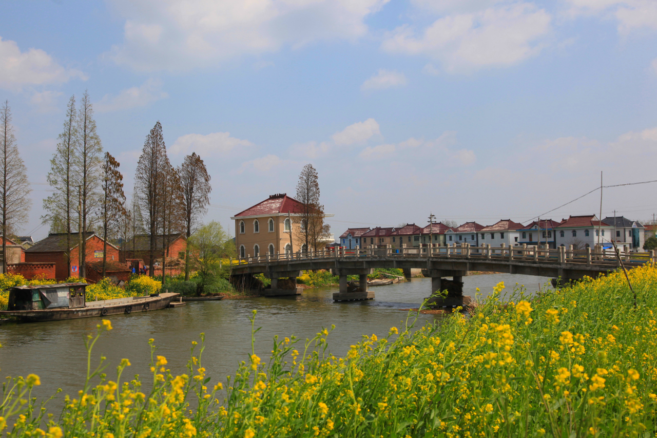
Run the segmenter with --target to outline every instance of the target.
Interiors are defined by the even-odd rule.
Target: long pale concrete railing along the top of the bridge
[[[499,247],[484,245],[482,247],[473,247],[468,244],[457,246],[422,246],[422,247],[405,247],[393,248],[391,245],[377,247],[371,245],[365,248],[355,247],[355,249],[346,249],[344,247],[323,248],[318,251],[297,251],[296,253],[267,253],[265,255],[246,255],[245,258],[238,258],[238,264],[252,263],[276,263],[285,261],[298,260],[319,260],[326,258],[371,258],[371,257],[436,257],[436,258],[466,258],[468,260],[528,260],[534,262],[555,262],[555,263],[581,263],[587,265],[605,265],[620,266],[621,261],[629,266],[637,266],[646,262],[657,262],[655,251],[648,253],[629,253],[619,250],[618,256],[614,255],[613,250],[610,255],[608,251],[596,245],[593,248],[574,249],[573,245],[568,247],[535,247],[527,246],[510,246],[502,244]],[[619,260],[620,259],[620,260]]]

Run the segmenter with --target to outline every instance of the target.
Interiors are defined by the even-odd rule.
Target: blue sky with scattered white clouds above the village
[[[85,90],[131,196],[160,121],[171,162],[212,176],[204,221],[319,173],[349,227],[528,223],[600,185],[650,181],[657,158],[654,0],[7,0],[0,99],[32,183],[22,233],[45,237],[46,175]],[[610,187],[652,220],[657,183]],[[600,192],[546,216],[598,214]]]

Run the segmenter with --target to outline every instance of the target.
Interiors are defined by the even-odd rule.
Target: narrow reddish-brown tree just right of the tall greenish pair
[[[99,201],[99,216],[102,226],[102,276],[107,268],[107,239],[118,234],[122,218],[126,215],[123,175],[120,163],[106,152],[102,162],[102,194]]]

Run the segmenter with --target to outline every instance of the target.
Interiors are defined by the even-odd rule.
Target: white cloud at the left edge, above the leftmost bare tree
[[[79,70],[64,68],[41,49],[21,52],[16,41],[0,37],[0,87],[21,89],[24,85],[61,84],[72,78],[87,79]]]

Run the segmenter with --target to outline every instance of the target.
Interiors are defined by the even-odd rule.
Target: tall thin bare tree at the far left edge
[[[32,207],[30,182],[25,164],[18,154],[14,127],[11,124],[9,101],[0,109],[0,214],[2,214],[2,264],[7,272],[7,238],[22,222],[25,222]]]

